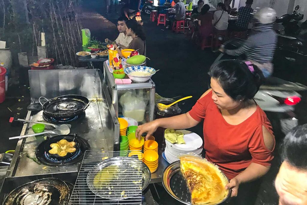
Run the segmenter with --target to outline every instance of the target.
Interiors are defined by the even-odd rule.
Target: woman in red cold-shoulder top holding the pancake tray
[[[147,138],[158,127],[187,129],[204,119],[205,157],[230,179],[226,189],[236,196],[239,185],[265,175],[274,158],[272,126],[253,100],[263,75],[256,66],[247,66],[239,60],[220,61],[212,66],[210,73],[212,89],[200,97],[192,110],[138,126],[136,135],[147,133]],[[244,202],[236,205],[250,204],[246,201],[250,199],[239,198]]]

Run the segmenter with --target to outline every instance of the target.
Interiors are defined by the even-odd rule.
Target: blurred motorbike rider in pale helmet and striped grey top
[[[273,73],[273,55],[277,44],[277,34],[273,30],[273,23],[276,19],[276,11],[271,8],[263,8],[255,14],[255,25],[253,34],[235,50],[220,48],[230,56],[244,54],[246,60],[255,64],[262,70],[267,78]]]

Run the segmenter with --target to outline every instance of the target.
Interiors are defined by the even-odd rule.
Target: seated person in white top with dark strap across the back
[[[212,25],[216,32],[225,31],[228,27],[228,13],[225,4],[222,2],[216,6],[216,12],[214,12]]]

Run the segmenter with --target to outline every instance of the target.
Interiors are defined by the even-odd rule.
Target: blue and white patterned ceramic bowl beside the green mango
[[[155,74],[156,71],[155,69],[153,68],[150,68],[148,66],[131,66],[131,67],[128,67],[128,68],[125,68],[124,69],[124,72],[126,73],[126,75],[128,75],[128,77],[133,81],[133,82],[136,82],[136,83],[144,83],[146,82],[147,80],[149,80],[151,78],[151,76],[153,76]],[[145,76],[136,76],[134,75],[133,73],[134,72],[144,72],[144,75],[146,73],[150,73],[150,72],[154,72],[150,75],[145,75]]]

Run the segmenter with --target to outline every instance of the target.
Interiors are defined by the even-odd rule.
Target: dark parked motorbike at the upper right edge
[[[297,5],[293,14],[285,14],[276,19],[274,29],[278,33],[276,48],[277,63],[305,64],[307,60],[307,21],[301,23],[303,14],[297,12]]]

